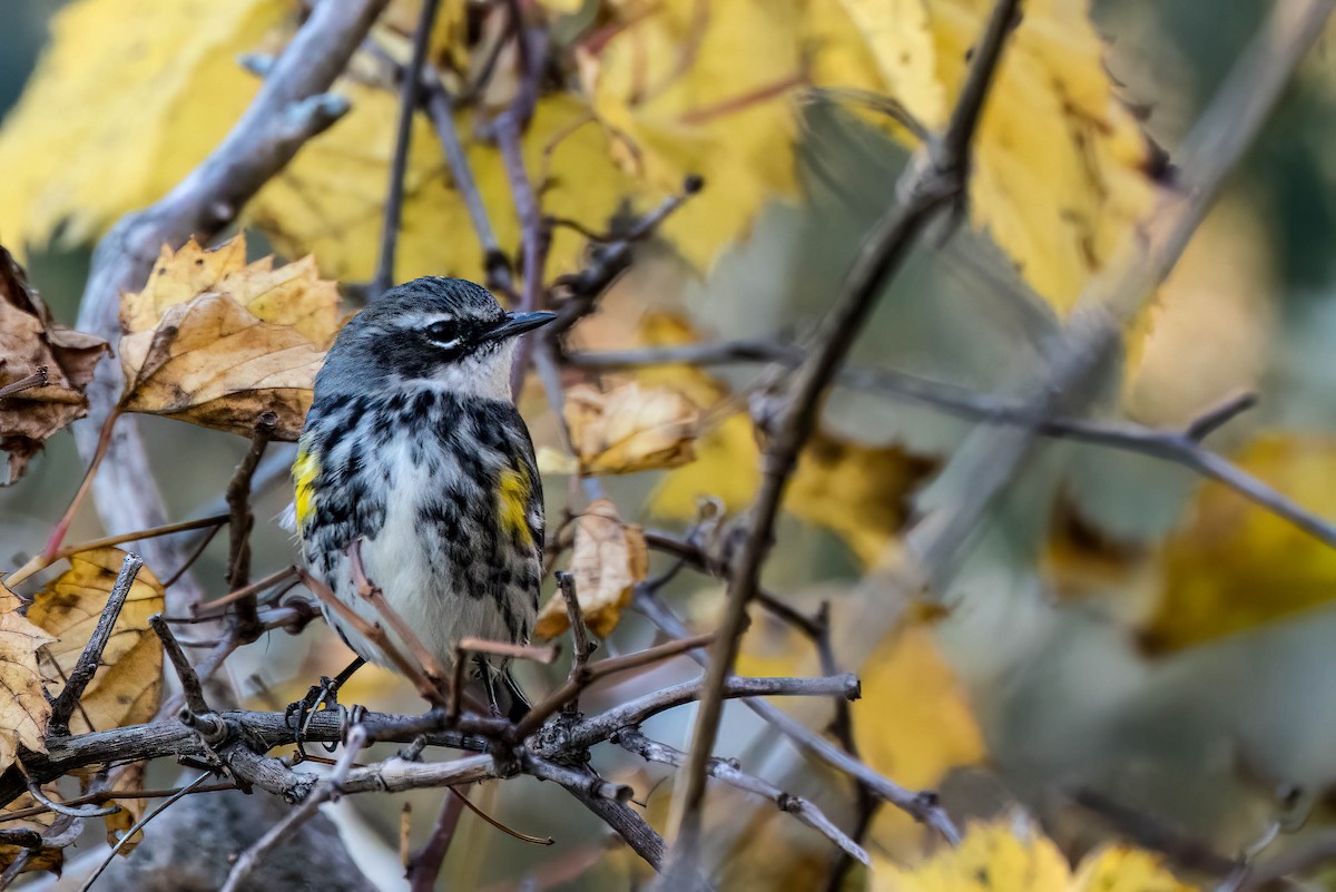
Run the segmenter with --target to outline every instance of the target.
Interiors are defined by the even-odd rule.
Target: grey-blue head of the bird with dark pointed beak
[[[343,326],[315,379],[315,394],[429,387],[510,399],[517,335],[554,318],[506,312],[490,291],[464,279],[413,279]]]

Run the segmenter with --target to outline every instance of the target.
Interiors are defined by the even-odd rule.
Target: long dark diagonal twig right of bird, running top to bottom
[[[870,234],[850,270],[843,295],[822,320],[814,338],[815,346],[799,367],[783,415],[774,425],[775,433],[764,454],[760,493],[728,588],[719,638],[709,654],[709,685],[692,728],[689,758],[683,772],[685,777],[673,788],[669,827],[675,856],[673,867],[664,877],[665,889],[676,888],[679,865],[683,871],[693,872],[699,861],[705,769],[723,714],[719,692],[737,660],[747,605],[759,585],[788,478],[816,425],[820,397],[918,234],[942,207],[963,194],[969,144],[1006,36],[1015,21],[1017,5],[1018,0],[994,3],[946,132],[941,140],[930,140],[926,155],[921,154],[919,160],[910,164],[895,204]]]

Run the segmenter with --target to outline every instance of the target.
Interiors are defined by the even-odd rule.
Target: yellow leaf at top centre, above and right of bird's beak
[[[791,97],[803,80],[795,0],[664,0],[623,27],[581,67],[613,139],[613,156],[651,195],[707,188],[663,234],[708,270],[748,231],[762,204],[796,192]]]

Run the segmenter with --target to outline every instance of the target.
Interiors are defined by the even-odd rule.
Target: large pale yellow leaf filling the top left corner
[[[259,81],[236,64],[289,0],[79,0],[0,130],[0,234],[88,242],[212,150]]]

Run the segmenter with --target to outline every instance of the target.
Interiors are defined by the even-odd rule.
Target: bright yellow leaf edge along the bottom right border
[[[1073,876],[1037,829],[999,820],[969,828],[959,848],[912,868],[874,856],[870,892],[1192,892],[1157,859],[1125,847],[1092,853]]]

